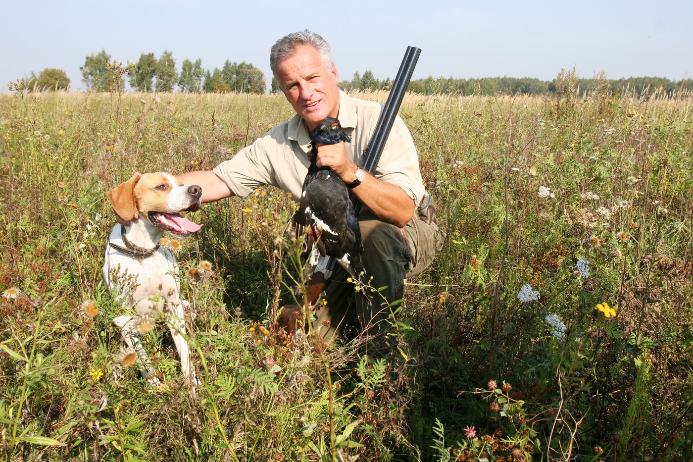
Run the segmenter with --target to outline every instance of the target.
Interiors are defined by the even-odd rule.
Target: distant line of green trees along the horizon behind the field
[[[141,53],[139,60],[122,69],[114,68],[111,56],[105,50],[92,53],[85,59],[82,72],[82,83],[87,91],[109,92],[125,88],[125,76],[132,89],[138,92],[173,92],[176,88],[189,93],[265,93],[266,83],[263,72],[247,62],[227,60],[223,67],[202,68],[202,60],[183,60],[180,71],[176,69],[173,53],[164,51],[159,58],[154,53]],[[572,71],[574,73],[574,69]],[[515,77],[484,78],[419,78],[412,80],[408,91],[420,94],[460,94],[460,95],[493,95],[493,94],[556,94],[561,92],[561,74],[553,80]],[[636,94],[652,94],[655,91],[673,94],[681,90],[693,91],[693,79],[669,80],[660,77],[631,77],[617,80],[606,78],[603,72],[593,78],[575,78],[576,89],[595,89],[619,93],[629,89]],[[70,79],[61,69],[46,68],[36,76],[33,72],[28,78],[28,87],[37,89],[67,89]],[[351,80],[342,80],[340,87],[350,90],[389,89],[392,80],[380,80],[367,70],[361,75],[356,72]],[[279,92],[279,83],[272,77],[270,92]]]

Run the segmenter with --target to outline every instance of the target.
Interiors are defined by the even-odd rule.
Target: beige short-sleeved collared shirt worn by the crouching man
[[[350,98],[340,91],[338,119],[344,131],[351,136],[351,143],[345,144],[347,153],[359,166],[363,164],[363,151],[368,146],[382,110],[380,103]],[[298,200],[308,173],[309,151],[308,127],[296,115],[290,121],[272,128],[213,171],[241,198],[249,196],[258,187],[272,185],[290,192]],[[398,185],[416,204],[423,196],[419,155],[412,135],[399,116],[392,124],[374,176]]]

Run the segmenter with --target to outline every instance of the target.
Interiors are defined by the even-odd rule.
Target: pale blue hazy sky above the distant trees
[[[45,68],[84,88],[80,67],[104,49],[137,62],[171,51],[204,69],[226,60],[272,74],[270,47],[305,28],[332,46],[341,80],[370,70],[394,78],[407,46],[421,56],[413,79],[536,77],[575,67],[590,78],[691,78],[692,0],[534,1],[213,1],[0,0],[0,92]]]

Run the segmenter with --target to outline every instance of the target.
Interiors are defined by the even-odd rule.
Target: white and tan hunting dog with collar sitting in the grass
[[[173,252],[161,245],[164,231],[177,237],[189,237],[202,225],[185,219],[181,212],[194,212],[202,203],[200,186],[185,186],[168,173],[135,174],[130,180],[111,189],[108,200],[114,211],[130,226],[116,224],[105,250],[103,280],[116,293],[116,301],[132,307],[132,314],[117,316],[125,343],[137,352],[140,373],[150,386],[159,379],[148,361],[140,341],[140,325],[147,324],[150,314],[164,314],[180,358],[186,383],[195,386],[195,368],[191,364],[190,346],[185,339],[184,307],[179,293],[178,266]],[[138,221],[132,221],[135,214]]]

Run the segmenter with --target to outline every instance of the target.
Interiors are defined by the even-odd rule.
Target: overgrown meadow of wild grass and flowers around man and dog
[[[164,386],[120,362],[105,191],[133,171],[209,169],[290,106],[1,94],[0,457],[687,459],[693,96],[565,94],[405,98],[447,238],[407,285],[389,361],[351,344],[290,351],[270,329],[297,271],[285,194],[196,212],[205,227],[178,255],[194,394],[163,328],[146,341]],[[214,271],[200,279],[202,260]]]

